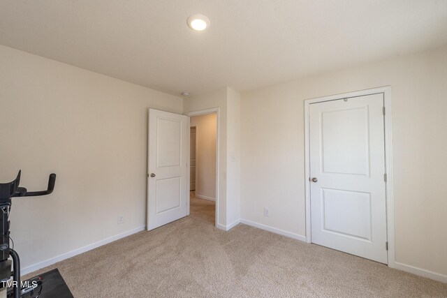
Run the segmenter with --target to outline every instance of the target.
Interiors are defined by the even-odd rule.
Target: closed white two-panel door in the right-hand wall
[[[312,242],[388,264],[383,94],[309,106]]]

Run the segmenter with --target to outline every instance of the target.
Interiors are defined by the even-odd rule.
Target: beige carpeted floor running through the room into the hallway
[[[214,228],[214,202],[191,215],[51,267],[75,297],[447,297],[447,284],[248,225]],[[31,276],[29,275],[29,276]]]

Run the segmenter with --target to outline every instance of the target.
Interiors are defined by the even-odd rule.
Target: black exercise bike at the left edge
[[[56,174],[50,174],[46,191],[27,191],[27,188],[19,187],[21,172],[20,170],[14,181],[0,184],[0,293],[3,294],[0,297],[38,297],[41,295],[43,287],[39,276],[28,281],[20,281],[20,258],[17,252],[10,247],[10,221],[8,218],[12,198],[49,195],[54,189]],[[12,262],[9,257],[13,259]],[[13,271],[11,271],[11,263]]]

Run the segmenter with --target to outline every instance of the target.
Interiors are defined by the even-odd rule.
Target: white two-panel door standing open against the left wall
[[[147,230],[186,216],[189,117],[149,109]]]

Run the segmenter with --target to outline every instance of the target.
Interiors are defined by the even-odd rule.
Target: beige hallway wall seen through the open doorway
[[[191,117],[191,126],[196,126],[196,197],[216,200],[217,116]]]

